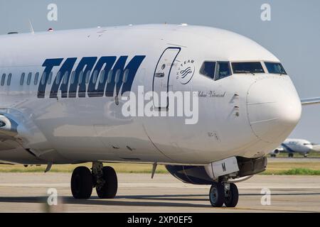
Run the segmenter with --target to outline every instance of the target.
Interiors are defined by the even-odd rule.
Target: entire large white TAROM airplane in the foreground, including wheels
[[[134,162],[153,165],[152,177],[166,165],[183,182],[210,185],[211,206],[235,207],[235,183],[265,171],[266,155],[292,133],[302,105],[320,102],[299,99],[271,52],[219,28],[11,33],[0,36],[0,50],[1,162],[46,172],[92,162],[73,171],[75,199],[89,199],[93,188],[114,198],[117,174],[104,163]],[[129,99],[149,92],[153,115],[123,114]],[[174,92],[191,93],[194,119],[169,116],[180,110]]]

